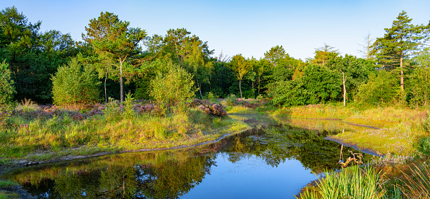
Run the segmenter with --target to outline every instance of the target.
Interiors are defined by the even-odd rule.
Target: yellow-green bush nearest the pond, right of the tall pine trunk
[[[185,69],[173,66],[168,73],[159,74],[152,80],[151,95],[159,105],[160,115],[174,110],[184,112],[186,102],[195,95],[194,80]]]

